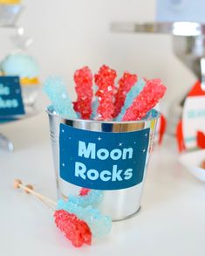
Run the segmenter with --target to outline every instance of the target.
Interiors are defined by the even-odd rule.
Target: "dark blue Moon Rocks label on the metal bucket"
[[[94,190],[121,190],[141,183],[149,128],[94,132],[60,124],[60,177]]]

